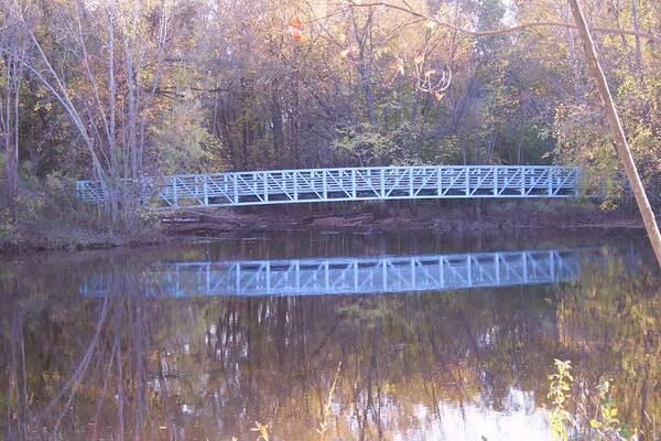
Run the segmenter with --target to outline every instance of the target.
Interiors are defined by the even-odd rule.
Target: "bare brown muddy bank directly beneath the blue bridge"
[[[397,232],[431,229],[477,232],[500,228],[642,228],[633,209],[604,212],[594,204],[365,204],[324,212],[302,207],[214,209],[166,215],[161,222],[167,236],[216,236],[240,232],[337,230]]]

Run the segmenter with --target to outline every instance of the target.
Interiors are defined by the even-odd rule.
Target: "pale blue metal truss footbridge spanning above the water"
[[[151,209],[333,201],[480,197],[575,197],[579,169],[568,166],[420,165],[176,174],[122,181]],[[78,181],[82,201],[102,204],[108,185]]]

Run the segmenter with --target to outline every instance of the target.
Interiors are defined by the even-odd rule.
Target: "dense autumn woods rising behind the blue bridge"
[[[661,6],[582,4],[655,195]],[[0,19],[9,211],[19,176],[112,195],[172,172],[571,163],[606,205],[625,189],[564,1],[2,0]]]

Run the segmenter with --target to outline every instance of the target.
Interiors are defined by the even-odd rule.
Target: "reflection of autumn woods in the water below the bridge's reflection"
[[[118,275],[115,290],[138,282]],[[567,287],[557,303],[552,288],[539,287],[83,300],[21,283],[3,281],[8,438],[40,438],[45,428],[65,439],[251,439],[256,420],[271,422],[274,439],[318,438],[340,361],[327,439],[443,433],[476,407],[514,411],[517,390],[539,405],[560,355],[578,361],[588,381],[615,372],[622,420],[639,423],[644,410],[659,421],[658,283],[615,268]]]

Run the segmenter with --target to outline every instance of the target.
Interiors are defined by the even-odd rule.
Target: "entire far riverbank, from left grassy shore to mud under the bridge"
[[[75,220],[73,220],[75,219]],[[139,247],[198,237],[232,237],[279,230],[379,233],[488,232],[543,228],[642,228],[631,208],[604,212],[589,202],[389,202],[188,211],[154,216],[138,226],[110,227],[95,215],[15,226],[0,254]]]

